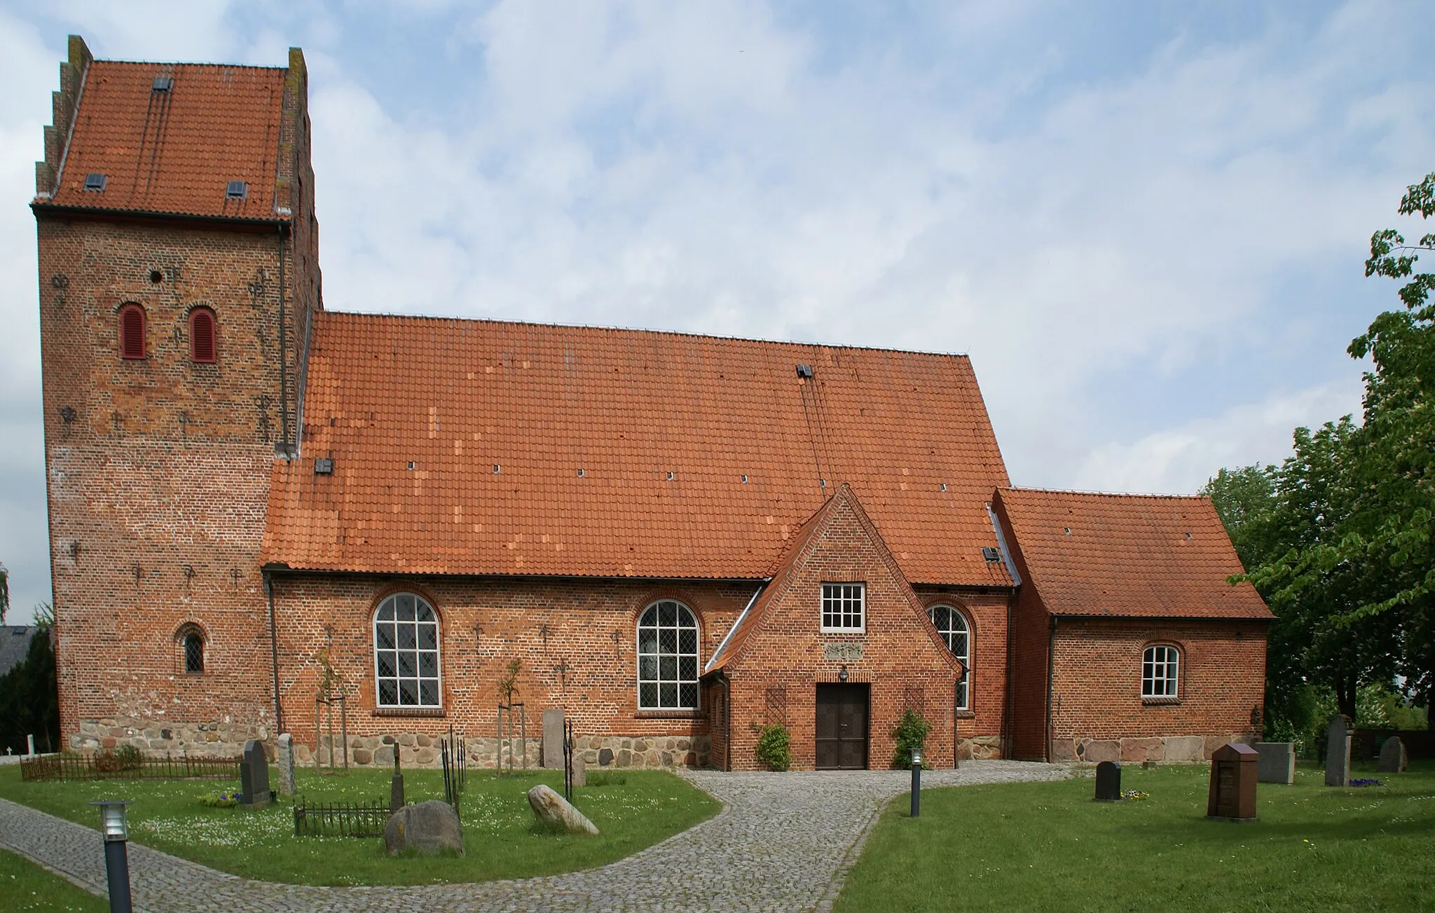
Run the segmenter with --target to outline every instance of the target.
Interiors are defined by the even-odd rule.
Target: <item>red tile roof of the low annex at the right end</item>
[[[1225,581],[1244,568],[1210,498],[1003,488],[996,508],[1052,614],[1274,617]]]

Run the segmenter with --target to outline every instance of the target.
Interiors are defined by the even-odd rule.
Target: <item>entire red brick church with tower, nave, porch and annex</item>
[[[1012,488],[964,356],[329,310],[303,55],[70,37],[32,204],[70,748],[1200,759],[1270,613],[1210,501]],[[339,303],[372,304],[369,301]],[[512,751],[512,748],[509,748]],[[528,751],[538,757],[537,738]]]

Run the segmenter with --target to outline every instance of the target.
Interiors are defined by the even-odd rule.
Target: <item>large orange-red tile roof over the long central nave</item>
[[[326,312],[303,418],[271,563],[761,579],[848,481],[910,580],[1010,584],[964,356]]]

